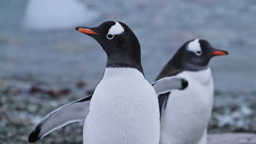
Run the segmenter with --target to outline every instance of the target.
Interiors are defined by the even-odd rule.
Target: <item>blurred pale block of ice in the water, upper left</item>
[[[69,29],[94,21],[99,14],[75,0],[28,1],[24,27],[33,30]]]

